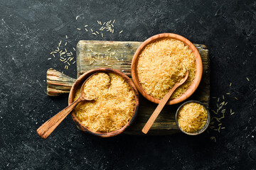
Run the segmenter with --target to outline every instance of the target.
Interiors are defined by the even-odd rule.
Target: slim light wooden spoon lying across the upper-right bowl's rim
[[[171,97],[171,94],[173,94],[174,91],[178,88],[178,86],[181,86],[181,84],[183,84],[186,81],[186,79],[188,79],[188,71],[186,72],[186,75],[185,75],[184,79],[181,82],[174,84],[173,88],[171,88],[170,91],[161,100],[161,102],[159,103],[159,106],[156,107],[156,110],[154,111],[154,113],[152,113],[152,115],[150,116],[149,120],[146,122],[146,125],[144,125],[144,128],[142,129],[142,132],[144,132],[144,134],[149,132],[149,129],[153,125],[153,123],[156,120],[157,116],[159,115],[161,110],[164,108],[164,106],[166,105],[167,101],[169,101],[169,98]]]

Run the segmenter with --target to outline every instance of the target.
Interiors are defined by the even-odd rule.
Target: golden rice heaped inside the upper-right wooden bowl
[[[196,57],[179,40],[165,38],[147,45],[139,55],[137,73],[142,88],[157,99],[164,98],[188,70],[188,79],[179,86],[171,99],[179,98],[191,86],[196,74]]]

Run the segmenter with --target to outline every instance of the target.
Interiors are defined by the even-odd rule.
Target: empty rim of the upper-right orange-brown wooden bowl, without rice
[[[192,42],[190,42],[186,38],[183,38],[181,35],[177,35],[174,33],[161,33],[158,35],[154,35],[151,38],[145,40],[142,43],[142,45],[140,45],[138,47],[138,49],[135,52],[134,57],[132,59],[132,80],[134,81],[135,86],[137,86],[137,89],[142,94],[142,96],[144,96],[146,99],[148,99],[149,101],[152,101],[154,103],[160,103],[161,100],[154,98],[153,96],[150,96],[149,94],[146,94],[146,91],[144,91],[144,89],[142,88],[142,85],[139,83],[139,77],[138,77],[138,73],[137,73],[137,65],[138,65],[139,55],[144,50],[146,45],[149,45],[150,43],[155,42],[156,40],[163,40],[165,38],[173,38],[176,40],[180,40],[185,45],[188,45],[189,49],[193,52],[193,54],[196,57],[195,79],[193,80],[193,83],[191,84],[191,86],[189,86],[188,90],[181,97],[175,98],[166,103],[167,105],[173,105],[176,103],[180,103],[181,101],[185,101],[186,98],[190,97],[193,94],[193,92],[196,91],[196,89],[201,81],[201,77],[202,77],[202,73],[203,73],[203,63],[201,60],[201,56],[200,56],[198,50],[196,49],[196,47],[192,44]]]

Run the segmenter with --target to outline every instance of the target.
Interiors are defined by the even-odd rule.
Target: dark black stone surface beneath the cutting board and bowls
[[[0,169],[256,169],[255,1],[2,0],[0,6]],[[114,19],[116,32],[104,38],[76,30]],[[65,70],[48,60],[65,35],[71,50],[78,40],[142,41],[165,32],[210,49],[211,96],[230,93],[224,130],[101,139],[68,116],[47,140],[38,137],[36,129],[68,104],[68,96],[46,95],[46,70],[76,75],[75,64]]]

